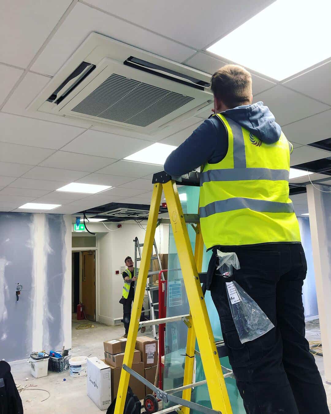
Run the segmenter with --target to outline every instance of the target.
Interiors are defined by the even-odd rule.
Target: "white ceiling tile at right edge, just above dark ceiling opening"
[[[331,110],[286,125],[282,130],[288,140],[301,144],[331,138]]]

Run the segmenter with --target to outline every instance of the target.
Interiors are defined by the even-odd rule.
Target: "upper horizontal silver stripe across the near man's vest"
[[[224,168],[204,171],[200,174],[200,186],[209,181],[271,180],[288,181],[289,171],[269,168]]]

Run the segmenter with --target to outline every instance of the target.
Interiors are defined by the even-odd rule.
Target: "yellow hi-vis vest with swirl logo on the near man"
[[[200,177],[199,215],[206,248],[272,242],[300,242],[299,224],[289,198],[290,152],[285,135],[261,142],[221,113],[228,152],[205,164]]]

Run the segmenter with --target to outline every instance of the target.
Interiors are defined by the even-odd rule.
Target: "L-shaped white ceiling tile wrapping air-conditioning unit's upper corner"
[[[93,31],[177,62],[182,62],[195,52],[109,14],[77,3],[38,57],[32,70],[55,75]]]

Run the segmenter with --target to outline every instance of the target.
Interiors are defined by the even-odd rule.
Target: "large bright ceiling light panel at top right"
[[[331,56],[330,15],[330,0],[277,0],[207,51],[283,80]]]

